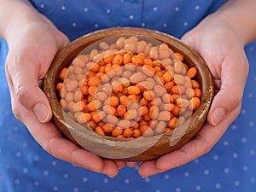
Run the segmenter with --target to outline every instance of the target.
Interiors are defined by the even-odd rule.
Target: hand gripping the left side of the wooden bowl
[[[52,112],[41,85],[55,53],[69,40],[32,7],[22,4],[22,9],[27,10],[25,19],[13,20],[5,37],[9,45],[6,76],[15,117],[49,154],[93,172],[116,176],[125,162],[105,160],[79,148],[50,121]]]

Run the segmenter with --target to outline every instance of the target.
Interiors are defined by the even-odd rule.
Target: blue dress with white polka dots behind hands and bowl
[[[113,26],[139,26],[181,38],[223,0],[33,0],[35,9],[73,40]],[[142,178],[137,166],[115,178],[55,159],[15,119],[0,40],[0,192],[255,192],[256,43],[246,47],[250,73],[241,113],[212,150],[187,165]]]

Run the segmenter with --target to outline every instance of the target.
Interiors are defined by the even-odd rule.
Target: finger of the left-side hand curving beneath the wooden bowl
[[[55,158],[65,160],[93,172],[102,172],[102,159],[64,138],[52,122],[43,124],[31,116],[27,116],[25,124],[32,137]]]

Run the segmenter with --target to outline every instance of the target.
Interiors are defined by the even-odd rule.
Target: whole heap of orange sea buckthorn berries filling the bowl
[[[99,135],[152,137],[172,133],[200,106],[197,73],[168,44],[119,37],[76,56],[55,89],[67,115]]]

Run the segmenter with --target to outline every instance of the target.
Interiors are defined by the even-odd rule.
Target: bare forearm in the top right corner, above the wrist
[[[229,0],[212,16],[230,25],[243,44],[256,39],[255,0]]]

